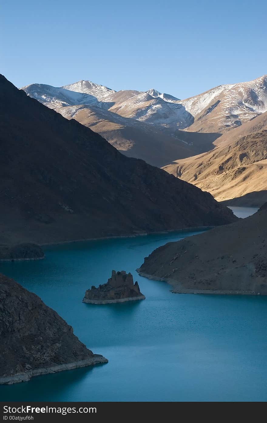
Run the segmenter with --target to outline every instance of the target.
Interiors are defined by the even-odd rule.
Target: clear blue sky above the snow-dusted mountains
[[[18,87],[84,79],[183,99],[267,74],[262,0],[10,0],[0,8],[1,73]]]

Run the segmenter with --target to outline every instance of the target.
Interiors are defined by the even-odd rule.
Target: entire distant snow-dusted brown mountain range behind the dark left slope
[[[84,80],[22,89],[124,155],[162,167],[218,201],[261,206],[267,200],[267,75],[185,100],[154,88],[116,92]]]

